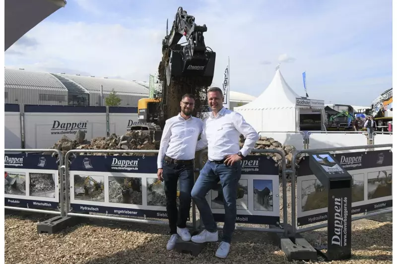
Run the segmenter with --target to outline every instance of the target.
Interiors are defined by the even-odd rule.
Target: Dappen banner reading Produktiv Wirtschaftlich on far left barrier
[[[4,204],[30,209],[59,209],[59,171],[51,155],[4,156]]]

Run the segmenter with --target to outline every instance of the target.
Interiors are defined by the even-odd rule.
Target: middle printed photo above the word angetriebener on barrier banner
[[[142,205],[142,179],[109,177],[109,203]]]

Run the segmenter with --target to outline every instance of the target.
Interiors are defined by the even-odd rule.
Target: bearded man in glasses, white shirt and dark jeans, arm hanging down
[[[164,180],[171,234],[167,250],[175,248],[179,236],[184,241],[191,239],[186,221],[190,214],[190,194],[194,185],[196,144],[203,129],[201,119],[192,116],[195,107],[193,95],[184,95],[180,105],[181,112],[165,122],[157,158],[157,177]],[[178,179],[179,210],[176,204]]]

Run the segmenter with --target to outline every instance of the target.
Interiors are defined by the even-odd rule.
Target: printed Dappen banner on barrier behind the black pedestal
[[[332,158],[353,177],[352,214],[392,207],[390,150],[337,153]],[[327,220],[328,191],[313,175],[308,158],[299,163],[297,175],[297,225]]]

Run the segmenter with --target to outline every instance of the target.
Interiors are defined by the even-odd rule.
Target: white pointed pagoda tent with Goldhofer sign
[[[321,109],[324,101],[300,97],[289,87],[278,67],[273,80],[258,98],[233,110],[243,115],[258,132],[293,132],[300,131],[299,117],[303,113],[317,112],[324,123]]]

